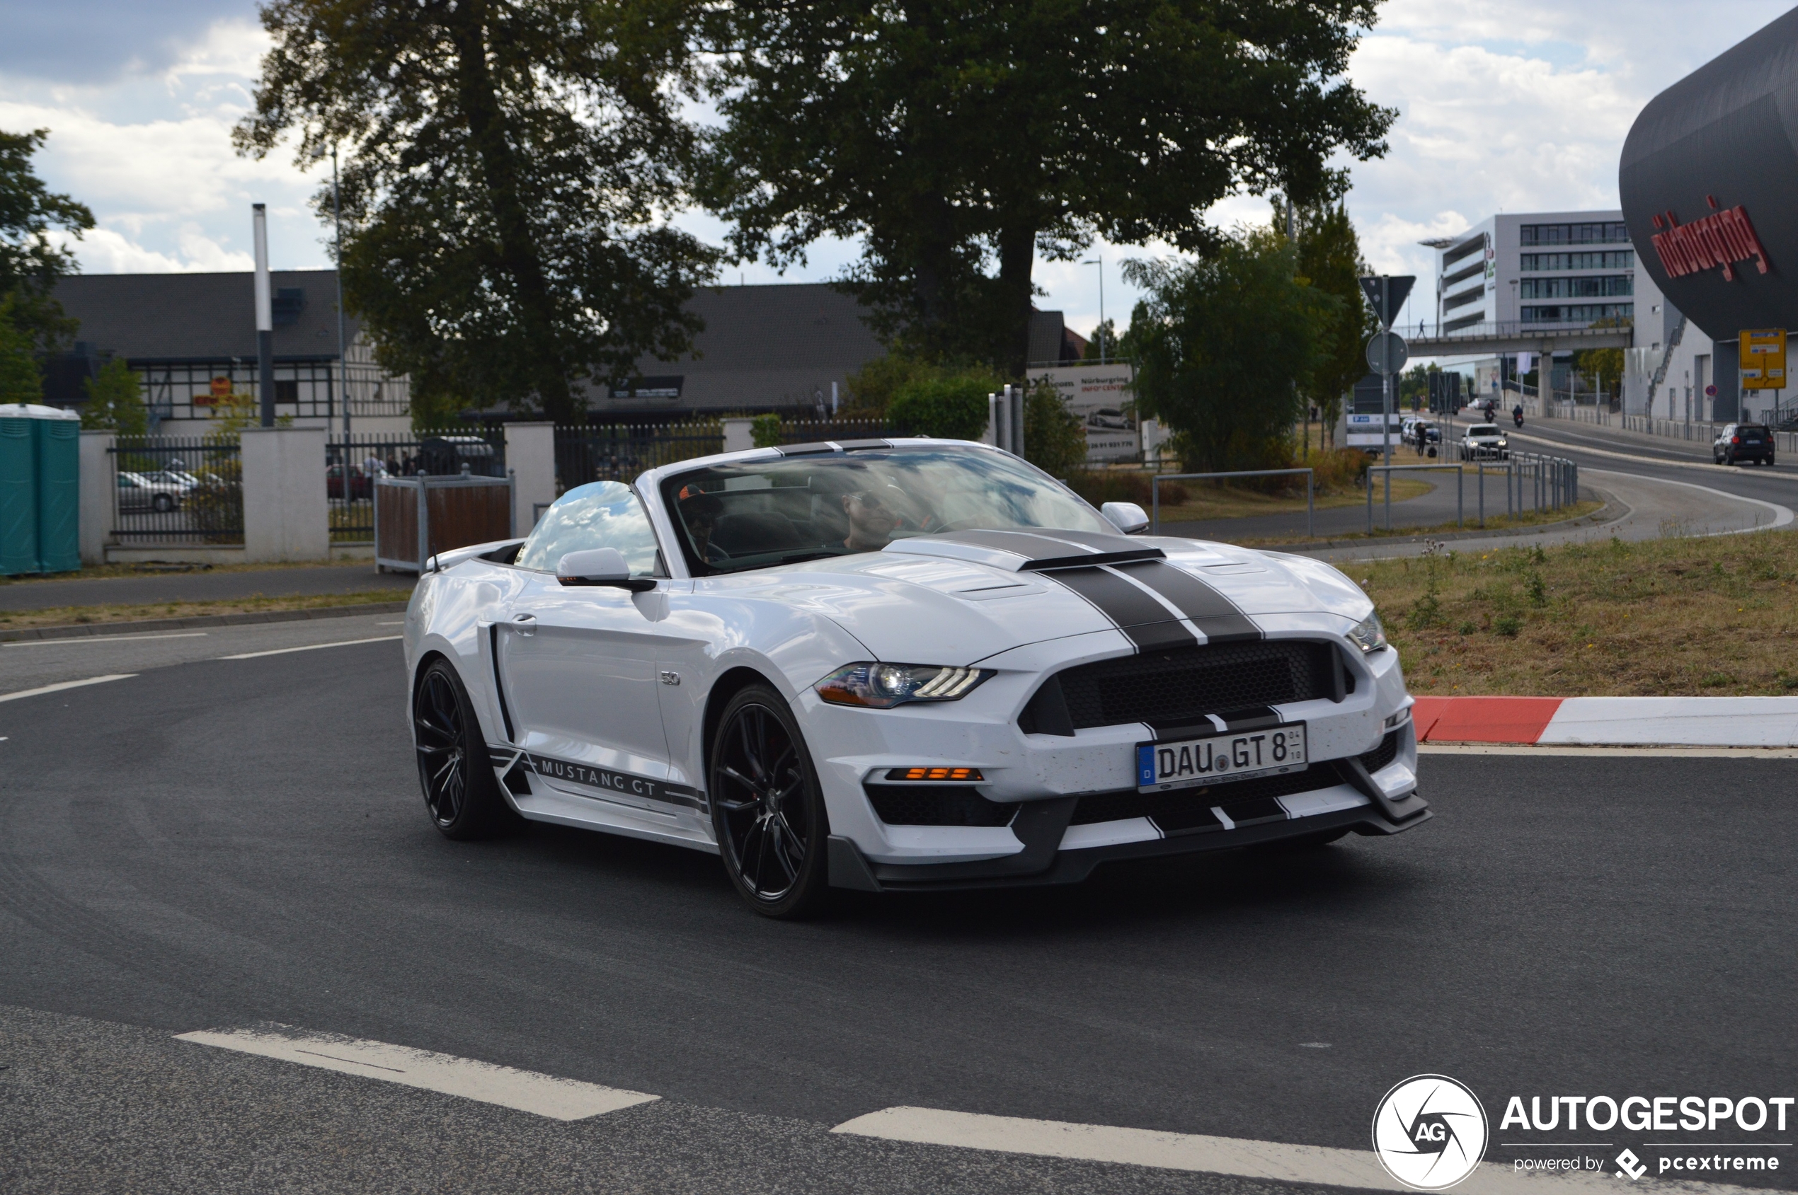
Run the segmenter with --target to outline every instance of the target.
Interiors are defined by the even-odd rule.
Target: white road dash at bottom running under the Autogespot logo
[[[919,1145],[951,1145],[1000,1154],[1037,1157],[1073,1157],[1093,1163],[1158,1166],[1228,1173],[1275,1182],[1314,1182],[1375,1191],[1406,1191],[1368,1150],[1340,1150],[1323,1145],[1282,1145],[1239,1137],[1205,1137],[1149,1129],[1111,1125],[1073,1125],[1059,1120],[1021,1120],[1018,1116],[980,1116],[940,1109],[890,1107],[843,1121],[831,1132]],[[1609,1159],[1607,1159],[1609,1161]],[[1645,1193],[1679,1195],[1766,1195],[1757,1188],[1721,1182],[1667,1182],[1643,1179],[1633,1184]],[[1455,1195],[1616,1195],[1618,1182],[1609,1170],[1527,1172],[1503,1163],[1482,1163],[1455,1186]]]

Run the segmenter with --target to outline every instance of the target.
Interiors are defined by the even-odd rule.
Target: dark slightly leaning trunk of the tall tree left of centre
[[[566,363],[556,336],[556,300],[538,257],[530,219],[525,216],[518,181],[518,156],[505,138],[505,117],[487,70],[487,4],[464,0],[450,18],[450,36],[457,49],[457,92],[467,122],[469,144],[480,156],[487,183],[487,203],[500,235],[500,268],[512,282],[518,314],[525,332],[525,352],[532,361],[532,383],[543,415],[554,422],[574,422],[574,394]]]

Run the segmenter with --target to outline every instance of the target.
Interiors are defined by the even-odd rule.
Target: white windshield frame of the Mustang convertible
[[[680,512],[678,494],[692,480],[692,474],[705,473],[710,469],[721,469],[730,465],[779,465],[782,462],[791,465],[804,465],[807,460],[849,460],[854,456],[877,456],[892,458],[908,453],[957,453],[976,456],[991,453],[1003,462],[1034,474],[1034,478],[1054,491],[1059,491],[1068,501],[1084,509],[1090,514],[1093,527],[1084,530],[1122,536],[1120,530],[1099,512],[1090,501],[1081,498],[1073,489],[1057,482],[1050,474],[1043,473],[1021,456],[996,449],[991,444],[978,444],[971,440],[939,440],[919,437],[915,440],[874,440],[859,444],[816,444],[816,446],[788,446],[782,449],[750,449],[746,453],[728,453],[719,456],[705,456],[699,460],[683,460],[674,465],[663,465],[638,478],[638,492],[645,500],[653,501],[653,518],[658,521],[660,530],[665,532],[663,539],[663,559],[676,575],[685,575],[690,579],[703,577],[737,577],[761,573],[770,568],[782,568],[789,564],[800,564],[804,559],[823,559],[836,555],[858,555],[856,552],[809,552],[806,548],[797,548],[795,553],[804,559],[773,559],[759,564],[750,564],[744,568],[716,568],[708,561],[701,561],[694,555],[692,544],[689,541],[687,523]],[[822,460],[820,460],[822,464]],[[1082,528],[1064,528],[1064,530],[1082,530]],[[879,548],[868,548],[868,552],[879,552]]]

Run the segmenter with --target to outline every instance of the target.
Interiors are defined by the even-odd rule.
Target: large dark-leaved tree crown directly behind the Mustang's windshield
[[[698,7],[698,5],[696,5]],[[1025,367],[1037,253],[1206,253],[1205,212],[1318,203],[1393,111],[1345,81],[1375,0],[739,0],[707,5],[723,128],[701,196],[741,257],[859,237],[847,286],[926,358]]]

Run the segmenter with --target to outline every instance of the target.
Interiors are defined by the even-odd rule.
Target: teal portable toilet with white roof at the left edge
[[[81,417],[0,404],[0,575],[81,568]]]

